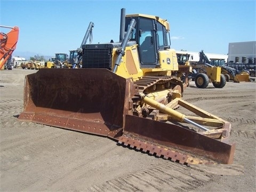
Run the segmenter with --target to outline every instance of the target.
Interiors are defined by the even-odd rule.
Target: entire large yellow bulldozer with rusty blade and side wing
[[[230,123],[182,100],[186,81],[169,31],[165,19],[122,9],[119,42],[83,44],[81,68],[25,77],[18,119],[101,135],[188,166],[233,163]]]

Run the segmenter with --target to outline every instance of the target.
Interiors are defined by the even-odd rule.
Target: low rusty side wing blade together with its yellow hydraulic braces
[[[184,122],[203,130],[195,132],[171,123],[153,121],[147,118],[138,118],[126,115],[125,128],[119,143],[126,146],[163,156],[181,164],[231,164],[233,163],[235,144],[229,145],[230,123],[206,111],[193,106],[181,98],[175,98],[166,106],[147,97],[137,94],[142,102],[160,110],[163,114],[155,118],[166,119],[172,123]],[[193,111],[200,117],[190,117],[173,110],[169,106],[180,105]],[[144,108],[148,107],[144,106]],[[159,120],[159,119],[158,119]],[[217,127],[207,129],[204,126]]]

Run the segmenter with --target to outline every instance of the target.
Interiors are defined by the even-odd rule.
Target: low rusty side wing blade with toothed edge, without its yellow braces
[[[135,140],[134,143],[131,139]],[[119,142],[186,163],[202,158],[206,162],[231,164],[235,150],[235,145],[208,138],[183,127],[130,115],[126,115],[124,134]],[[149,147],[150,145],[156,147]],[[170,153],[171,151],[176,154]],[[191,159],[193,156],[196,158]]]

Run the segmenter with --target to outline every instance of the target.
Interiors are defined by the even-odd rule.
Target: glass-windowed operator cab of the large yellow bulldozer
[[[130,41],[138,43],[141,68],[156,68],[159,66],[158,51],[170,49],[169,30],[156,17],[138,14],[126,15],[126,31],[132,19],[135,19],[136,25]]]

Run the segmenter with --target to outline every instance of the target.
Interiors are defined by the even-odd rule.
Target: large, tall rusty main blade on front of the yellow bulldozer
[[[19,120],[115,137],[129,81],[107,69],[40,69],[27,75]]]

